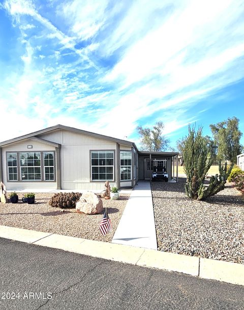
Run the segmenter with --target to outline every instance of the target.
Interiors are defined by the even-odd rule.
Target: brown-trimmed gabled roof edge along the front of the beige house
[[[48,127],[48,128],[42,129],[42,130],[38,130],[38,131],[35,131],[35,132],[31,132],[31,133],[28,133],[28,134],[24,134],[24,135],[21,135],[19,137],[12,138],[12,139],[9,139],[9,140],[6,140],[6,141],[3,141],[3,142],[0,143],[0,147],[8,145],[8,144],[11,144],[11,143],[14,143],[14,142],[18,142],[18,141],[26,139],[26,138],[34,138],[34,137],[39,139],[40,142],[41,142],[41,139],[38,137],[38,135],[46,133],[46,132],[49,132],[49,131],[57,130],[57,129],[63,129],[63,130],[69,130],[69,131],[77,132],[77,133],[83,133],[83,134],[87,134],[87,135],[90,135],[90,136],[93,136],[93,137],[110,140],[110,141],[113,141],[113,142],[116,142],[116,143],[119,143],[119,144],[124,144],[124,145],[128,145],[128,146],[134,146],[137,149],[136,145],[133,142],[130,142],[130,141],[127,141],[127,140],[117,139],[117,138],[113,138],[113,137],[110,137],[110,136],[107,136],[107,135],[103,135],[103,134],[99,134],[99,133],[94,133],[94,132],[90,132],[90,131],[85,131],[85,130],[81,130],[81,129],[77,129],[77,128],[73,128],[73,127],[69,127],[69,126],[60,125],[60,124],[52,126],[52,127]],[[52,143],[52,142],[44,140],[44,139],[42,139],[42,140],[43,140],[44,143],[49,143],[49,144]],[[58,147],[58,145],[57,145],[57,147]]]

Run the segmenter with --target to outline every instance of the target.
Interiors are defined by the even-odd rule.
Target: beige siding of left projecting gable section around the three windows
[[[27,145],[32,145],[32,149],[27,149]],[[56,182],[8,182],[7,178],[7,158],[6,152],[37,152],[37,151],[55,151],[55,148],[46,144],[39,143],[31,139],[24,139],[21,142],[13,143],[9,146],[3,147],[3,182],[7,190],[22,190],[28,188],[50,188],[56,189]],[[18,162],[19,166],[19,162]]]

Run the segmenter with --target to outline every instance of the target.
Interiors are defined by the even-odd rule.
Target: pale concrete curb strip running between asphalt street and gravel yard
[[[0,237],[106,260],[177,271],[204,279],[214,279],[244,286],[244,265],[242,264],[8,226],[0,226]]]

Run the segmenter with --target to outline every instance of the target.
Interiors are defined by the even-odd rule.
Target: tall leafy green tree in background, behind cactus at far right
[[[222,161],[236,163],[236,156],[242,151],[240,138],[242,133],[239,130],[239,120],[236,117],[211,124],[210,129],[214,137],[214,143],[218,147],[217,158]]]

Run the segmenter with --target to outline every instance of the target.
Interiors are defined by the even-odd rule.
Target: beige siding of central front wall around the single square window
[[[116,143],[86,134],[59,130],[43,134],[43,139],[62,144],[60,149],[61,188],[103,190],[103,182],[90,182],[90,150],[114,150],[114,178],[116,179]],[[110,186],[117,186],[116,181]]]

